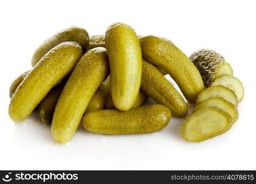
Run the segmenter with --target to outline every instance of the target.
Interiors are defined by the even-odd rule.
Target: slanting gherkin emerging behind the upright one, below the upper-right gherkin
[[[141,90],[158,104],[168,107],[175,117],[187,115],[187,103],[176,88],[145,59],[142,66]]]

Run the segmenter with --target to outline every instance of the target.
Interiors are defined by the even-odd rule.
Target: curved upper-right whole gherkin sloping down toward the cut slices
[[[169,40],[142,36],[140,42],[143,58],[168,72],[187,101],[194,104],[198,94],[204,90],[204,83],[192,61]]]

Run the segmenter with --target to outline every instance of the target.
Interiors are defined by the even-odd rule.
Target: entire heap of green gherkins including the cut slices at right
[[[155,132],[168,125],[171,114],[185,117],[187,102],[196,105],[181,134],[200,142],[231,128],[244,96],[218,53],[203,49],[188,58],[170,40],[137,36],[124,23],[96,36],[64,29],[45,40],[31,62],[33,68],[10,86],[10,118],[23,121],[37,110],[61,144],[72,139],[81,120],[85,129],[101,134]],[[157,104],[143,105],[148,98]]]

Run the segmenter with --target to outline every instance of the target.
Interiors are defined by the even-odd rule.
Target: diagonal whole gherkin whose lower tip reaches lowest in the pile
[[[88,50],[64,86],[52,120],[53,139],[64,144],[74,136],[93,94],[109,75],[106,49]]]

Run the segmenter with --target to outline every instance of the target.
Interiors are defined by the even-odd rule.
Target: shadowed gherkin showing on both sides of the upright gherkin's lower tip
[[[131,107],[131,109],[142,105],[147,100],[147,98],[148,98],[147,94],[145,94],[143,91],[139,90],[139,94],[138,94],[133,106]],[[106,109],[115,109],[115,105],[113,103],[111,94],[109,94],[109,96],[107,96],[107,99],[105,102],[105,107],[106,107]]]

